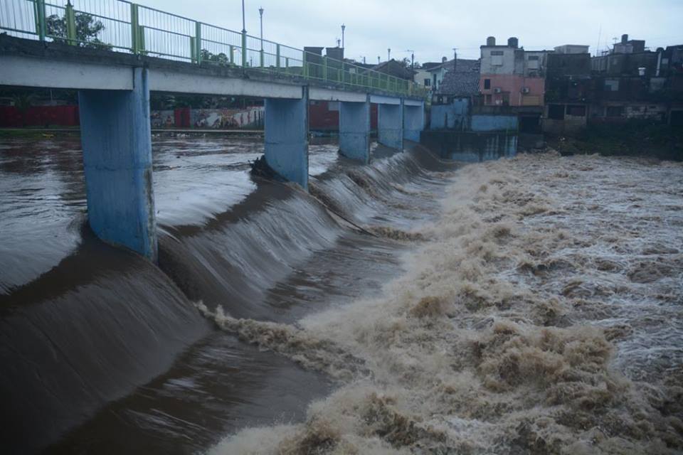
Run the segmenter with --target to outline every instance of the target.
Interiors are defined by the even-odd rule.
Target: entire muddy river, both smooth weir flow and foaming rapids
[[[157,139],[159,267],[85,229],[77,142],[0,149],[10,451],[683,450],[683,166]]]

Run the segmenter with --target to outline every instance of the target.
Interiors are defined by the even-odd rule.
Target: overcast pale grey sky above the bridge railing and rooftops
[[[137,0],[216,26],[242,29],[241,0]],[[347,58],[376,62],[393,58],[438,61],[478,58],[487,36],[499,43],[517,36],[524,48],[551,49],[561,44],[591,45],[595,53],[628,33],[653,50],[683,43],[683,0],[245,0],[246,27],[258,36],[258,7],[263,6],[263,35],[302,48],[334,46],[346,24]],[[601,29],[601,31],[600,31]]]

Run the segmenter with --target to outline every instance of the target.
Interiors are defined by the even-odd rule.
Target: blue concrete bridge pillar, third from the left
[[[339,153],[370,162],[370,95],[366,102],[339,102]]]

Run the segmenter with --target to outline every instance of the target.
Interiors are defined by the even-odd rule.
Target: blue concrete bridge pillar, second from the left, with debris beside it
[[[300,100],[265,100],[265,162],[308,189],[308,87]]]

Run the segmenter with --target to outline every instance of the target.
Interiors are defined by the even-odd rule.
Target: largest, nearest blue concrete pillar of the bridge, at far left
[[[105,242],[157,260],[147,70],[133,90],[80,90],[88,223]]]

